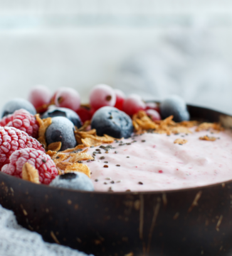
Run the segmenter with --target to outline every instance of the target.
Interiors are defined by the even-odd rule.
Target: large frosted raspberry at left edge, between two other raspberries
[[[0,126],[0,169],[9,164],[9,157],[16,150],[34,148],[45,152],[43,146],[24,131],[14,127]]]

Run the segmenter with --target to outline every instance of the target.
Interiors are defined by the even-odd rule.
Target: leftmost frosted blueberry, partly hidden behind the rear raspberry
[[[14,111],[21,108],[26,109],[29,113],[33,115],[36,114],[36,109],[34,108],[33,104],[31,104],[26,99],[15,98],[11,99],[11,101],[8,101],[6,104],[4,104],[1,113],[1,118],[3,118],[3,116],[7,116],[8,114],[13,114]]]

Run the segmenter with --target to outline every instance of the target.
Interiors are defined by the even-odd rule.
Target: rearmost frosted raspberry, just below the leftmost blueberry
[[[18,109],[13,114],[8,114],[0,121],[1,126],[12,126],[21,131],[25,131],[29,136],[38,138],[38,121],[26,109]]]

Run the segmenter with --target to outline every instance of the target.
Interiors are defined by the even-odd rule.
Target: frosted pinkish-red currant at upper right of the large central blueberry
[[[124,112],[132,116],[136,114],[139,110],[145,109],[145,103],[142,98],[137,94],[132,94],[124,101]]]

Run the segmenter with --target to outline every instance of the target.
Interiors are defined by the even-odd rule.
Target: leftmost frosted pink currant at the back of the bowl
[[[34,86],[29,93],[28,100],[38,113],[43,113],[50,104],[51,92],[46,86]]]

